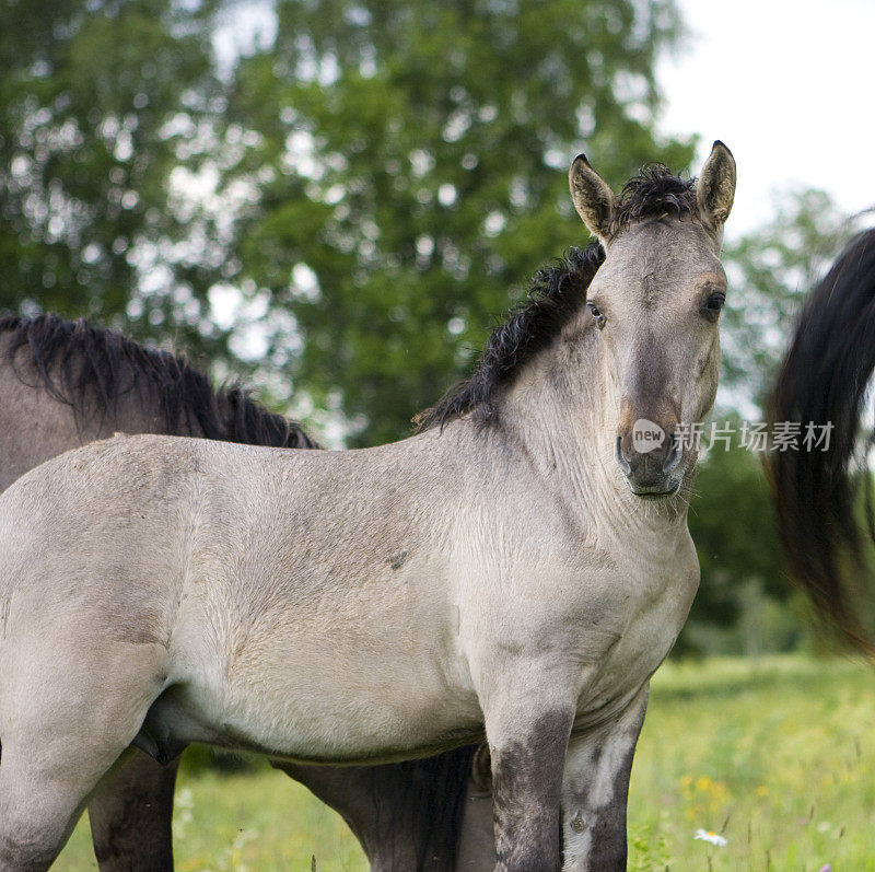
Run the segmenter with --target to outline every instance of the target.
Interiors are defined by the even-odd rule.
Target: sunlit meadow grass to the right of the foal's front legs
[[[632,772],[630,867],[875,871],[873,739],[871,668],[801,656],[667,664]],[[693,840],[700,827],[728,845]]]

